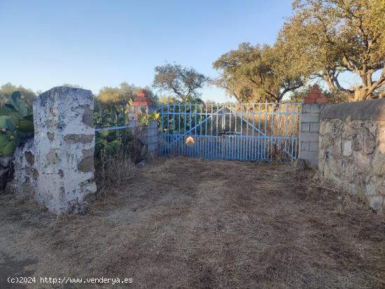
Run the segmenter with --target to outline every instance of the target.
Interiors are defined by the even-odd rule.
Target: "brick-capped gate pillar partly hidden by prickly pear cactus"
[[[137,97],[130,106],[130,125],[140,125],[138,115],[143,109],[147,113],[153,113],[156,111],[156,106],[151,97],[147,96],[146,90],[139,90]],[[138,137],[147,146],[148,155],[151,157],[158,156],[158,121],[153,120],[146,127],[143,127]]]

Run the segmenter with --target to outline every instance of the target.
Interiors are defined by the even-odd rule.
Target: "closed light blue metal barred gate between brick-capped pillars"
[[[162,104],[161,156],[297,159],[299,103]]]

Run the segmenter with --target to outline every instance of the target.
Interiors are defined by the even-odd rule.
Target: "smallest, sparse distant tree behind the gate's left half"
[[[165,64],[155,67],[153,87],[162,92],[172,93],[176,99],[183,102],[194,101],[200,97],[200,90],[208,81],[207,76],[193,68],[179,64]]]

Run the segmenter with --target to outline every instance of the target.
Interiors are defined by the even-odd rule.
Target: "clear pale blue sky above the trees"
[[[0,0],[0,84],[97,93],[123,81],[151,85],[165,62],[216,76],[220,55],[244,41],[274,43],[290,13],[290,0]],[[203,98],[228,99],[214,87]]]

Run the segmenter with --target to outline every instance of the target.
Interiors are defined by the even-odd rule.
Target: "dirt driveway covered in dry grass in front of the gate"
[[[292,164],[163,158],[87,216],[1,196],[0,288],[385,288],[385,218]]]

